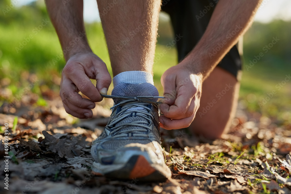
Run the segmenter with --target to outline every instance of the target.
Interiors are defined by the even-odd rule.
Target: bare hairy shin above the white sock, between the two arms
[[[152,74],[161,1],[97,0],[113,76],[125,71]],[[111,9],[104,14],[104,9]]]

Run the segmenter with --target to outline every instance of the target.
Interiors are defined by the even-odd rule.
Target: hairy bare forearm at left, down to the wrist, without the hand
[[[77,53],[91,52],[85,34],[83,0],[63,3],[60,0],[46,0],[49,17],[58,34],[65,60]]]

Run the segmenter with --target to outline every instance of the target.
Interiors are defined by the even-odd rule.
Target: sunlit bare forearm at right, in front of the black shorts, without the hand
[[[212,72],[251,25],[262,0],[219,0],[202,38],[181,62],[200,74],[202,80]]]

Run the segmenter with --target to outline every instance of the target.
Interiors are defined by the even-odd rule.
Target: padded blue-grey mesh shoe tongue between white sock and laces
[[[139,84],[119,83],[113,88],[111,95],[113,95],[113,96],[129,96],[129,97],[159,96],[159,92],[158,92],[157,88],[150,83],[139,83]],[[118,104],[123,100],[124,99],[113,99],[115,104]],[[155,100],[155,99],[151,99],[151,100]]]

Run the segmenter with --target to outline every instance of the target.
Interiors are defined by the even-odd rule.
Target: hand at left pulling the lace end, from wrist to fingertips
[[[97,81],[96,87],[90,79]],[[65,110],[80,118],[92,118],[95,102],[100,102],[107,94],[111,76],[106,64],[92,52],[75,54],[68,60],[62,71],[60,96]],[[81,91],[87,98],[82,98]]]

